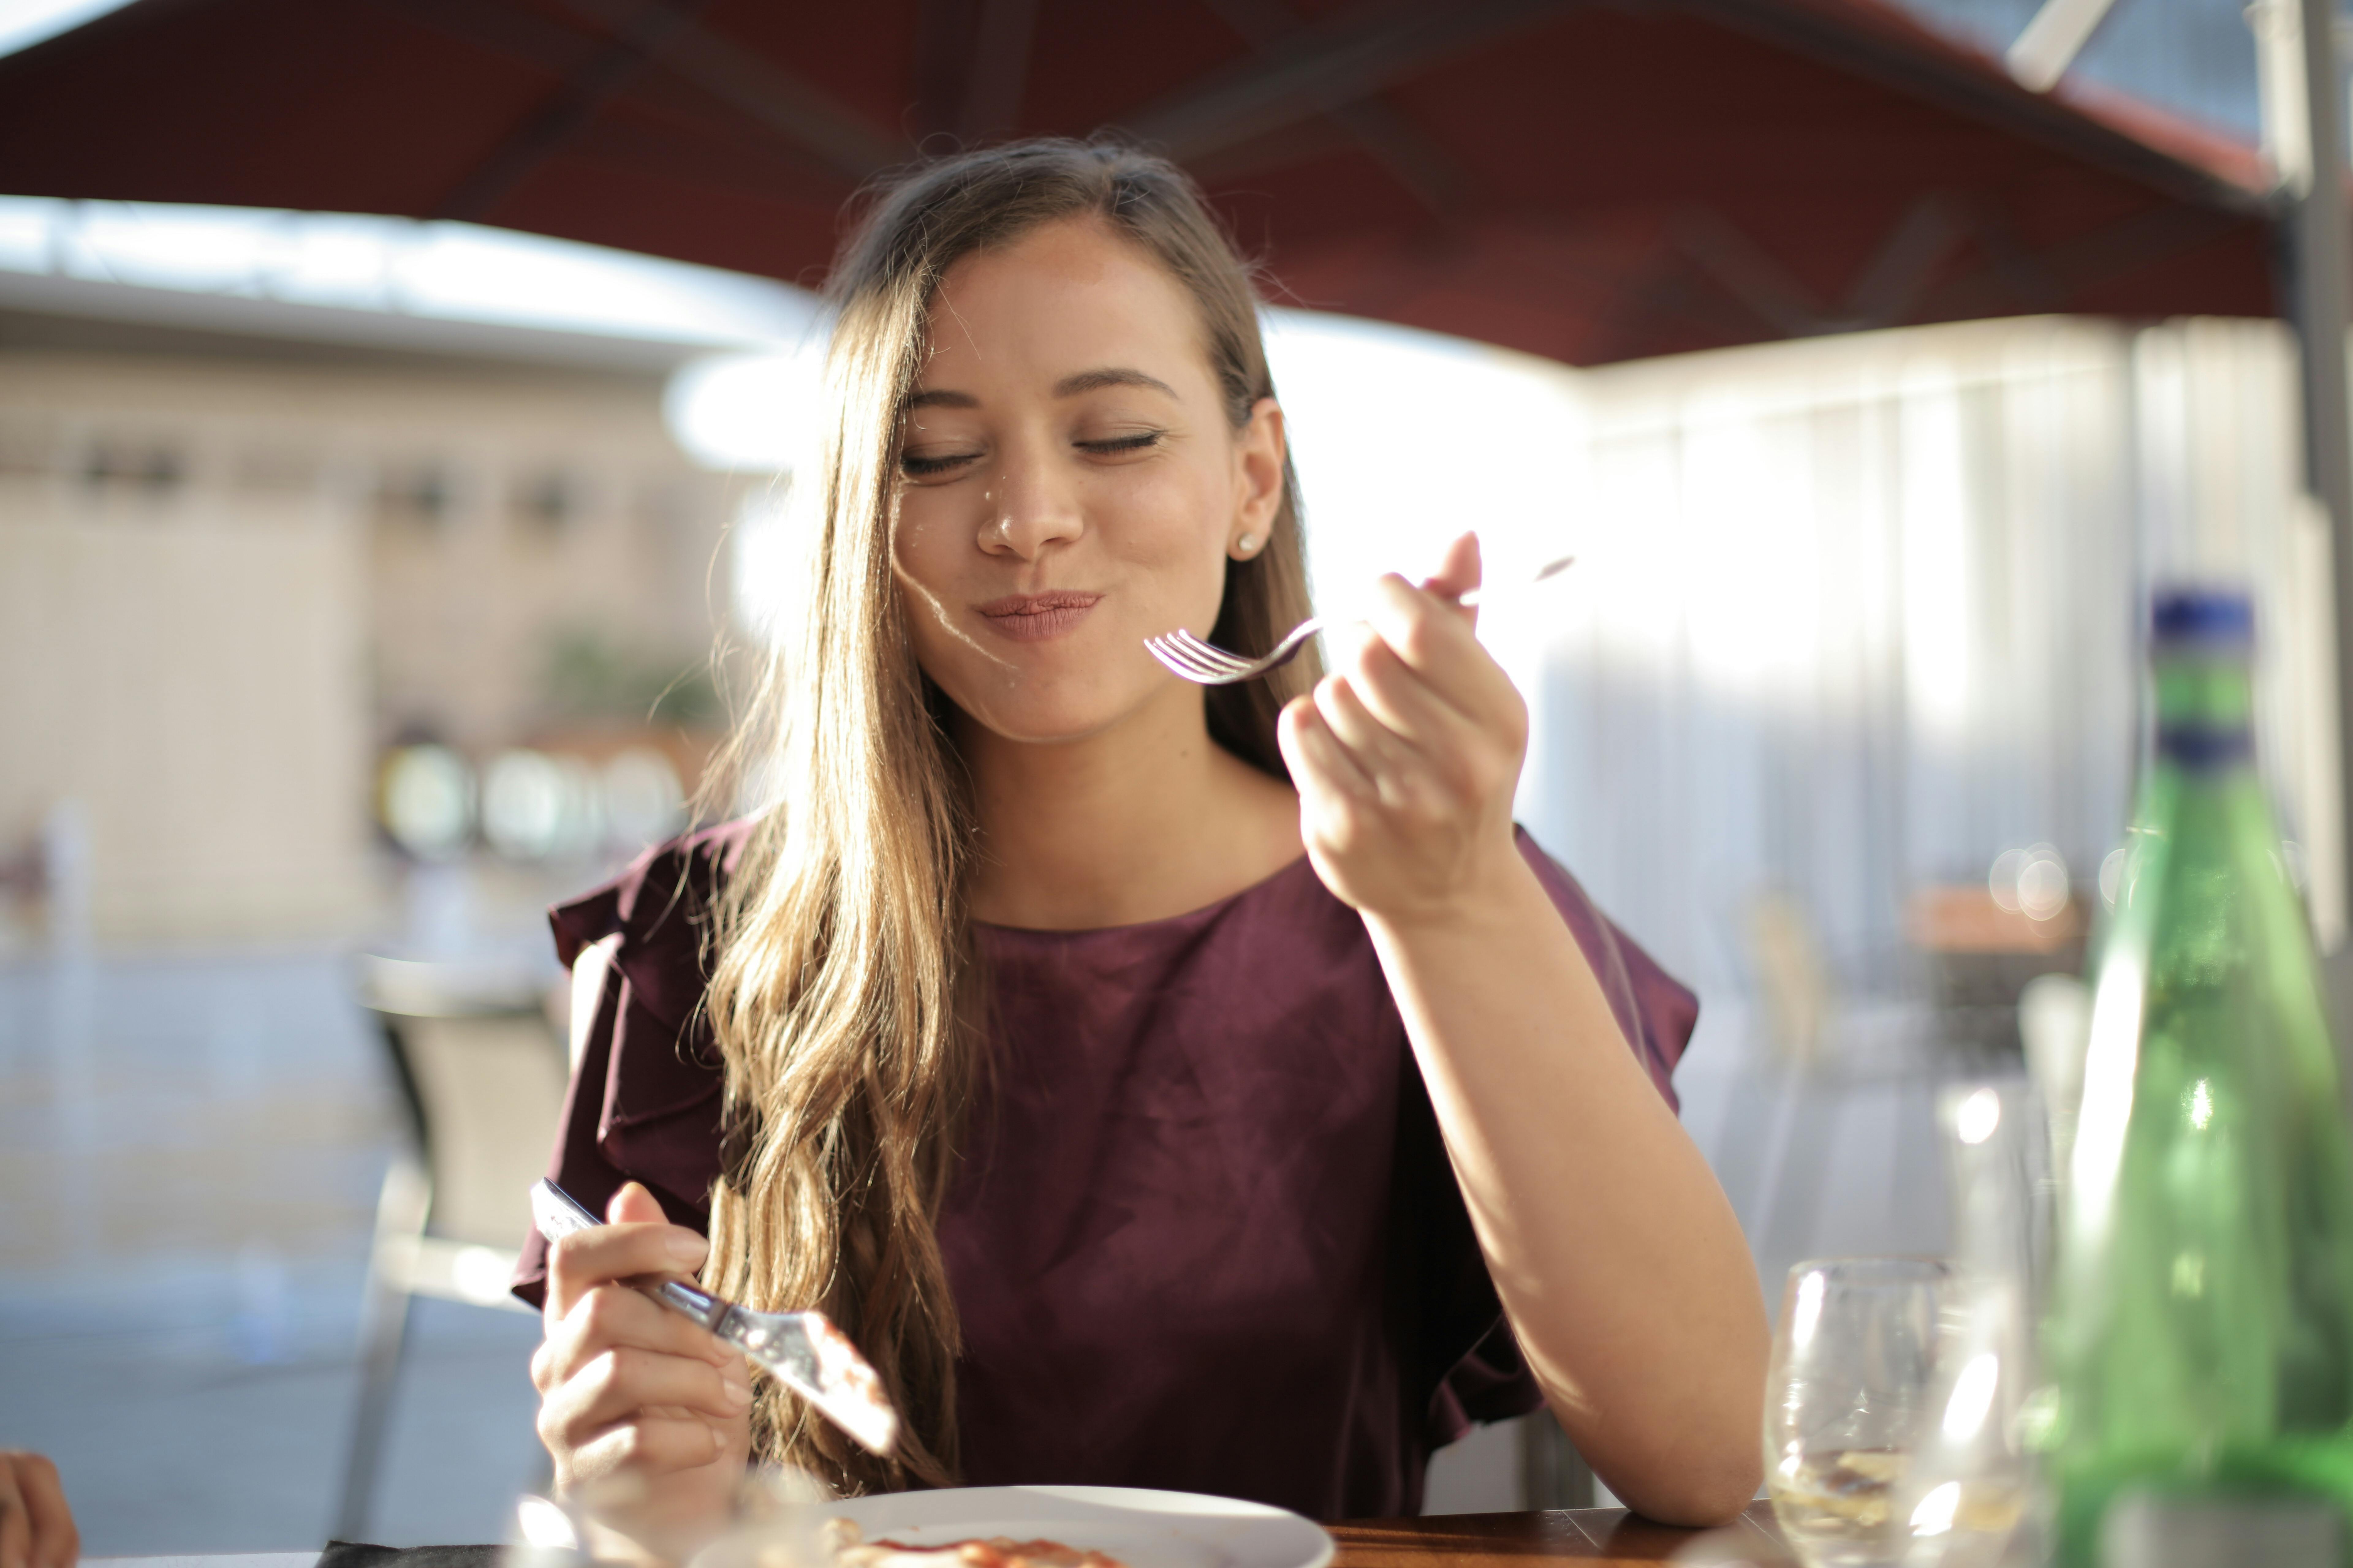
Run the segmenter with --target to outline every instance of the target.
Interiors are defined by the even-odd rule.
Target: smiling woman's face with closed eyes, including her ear
[[[1264,548],[1282,414],[1235,430],[1200,310],[1094,221],[948,270],[901,435],[899,585],[922,670],[1009,741],[1188,701],[1144,651],[1207,635]]]

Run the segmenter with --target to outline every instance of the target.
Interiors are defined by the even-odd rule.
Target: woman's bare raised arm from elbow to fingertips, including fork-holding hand
[[[1461,541],[1433,588],[1475,581]],[[1762,1474],[1765,1307],[1715,1175],[1513,844],[1525,743],[1468,616],[1395,578],[1282,722],[1308,853],[1365,914],[1553,1413],[1628,1505],[1715,1523]]]

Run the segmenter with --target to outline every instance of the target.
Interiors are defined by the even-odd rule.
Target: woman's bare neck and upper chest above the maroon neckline
[[[1198,686],[1078,741],[1007,741],[962,719],[979,863],[972,914],[1094,931],[1217,903],[1299,858],[1299,802],[1209,741]]]

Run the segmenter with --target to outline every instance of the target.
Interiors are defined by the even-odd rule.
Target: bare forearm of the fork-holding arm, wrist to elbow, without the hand
[[[1513,853],[1445,919],[1365,924],[1565,1429],[1645,1514],[1739,1509],[1767,1354],[1748,1248],[1544,886]]]

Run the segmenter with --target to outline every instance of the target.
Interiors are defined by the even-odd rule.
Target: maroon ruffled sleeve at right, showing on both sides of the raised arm
[[[1609,1011],[1617,1013],[1626,1046],[1649,1072],[1659,1095],[1675,1107],[1673,1072],[1699,1023],[1699,997],[1619,931],[1584,886],[1527,837],[1527,830],[1520,830],[1520,853],[1577,936],[1593,978],[1609,999]],[[1478,1251],[1478,1234],[1471,1229],[1471,1213],[1454,1182],[1421,1074],[1407,1077],[1398,1166],[1409,1175],[1400,1182],[1395,1229],[1398,1246],[1407,1251],[1400,1260],[1409,1269],[1405,1276],[1421,1286],[1409,1312],[1419,1319],[1424,1378],[1435,1385],[1424,1436],[1431,1448],[1442,1448],[1473,1422],[1508,1420],[1541,1408],[1544,1389],[1520,1354],[1520,1340],[1511,1333],[1504,1302],[1487,1276],[1487,1258]]]

